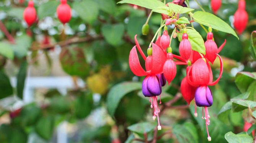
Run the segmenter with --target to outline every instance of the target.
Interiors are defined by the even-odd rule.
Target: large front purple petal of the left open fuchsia
[[[162,85],[156,75],[149,76],[147,80],[147,89],[152,95],[160,95],[162,92]]]

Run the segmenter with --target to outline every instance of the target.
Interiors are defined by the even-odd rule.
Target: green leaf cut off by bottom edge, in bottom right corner
[[[235,134],[232,132],[227,132],[225,134],[225,139],[228,143],[252,143],[253,138],[246,134]]]

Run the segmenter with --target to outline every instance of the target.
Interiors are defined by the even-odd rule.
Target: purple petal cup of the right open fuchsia
[[[207,86],[200,86],[195,92],[196,106],[212,106],[212,92]]]

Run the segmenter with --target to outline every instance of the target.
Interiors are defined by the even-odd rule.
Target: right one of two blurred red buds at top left
[[[66,0],[61,0],[61,4],[57,7],[57,16],[60,21],[65,24],[71,19],[71,8]]]

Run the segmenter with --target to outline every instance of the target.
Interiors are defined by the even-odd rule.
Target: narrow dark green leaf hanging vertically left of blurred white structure
[[[24,89],[25,79],[27,76],[27,67],[28,67],[28,63],[26,61],[23,61],[17,75],[17,95],[21,99],[23,99],[23,89]]]

